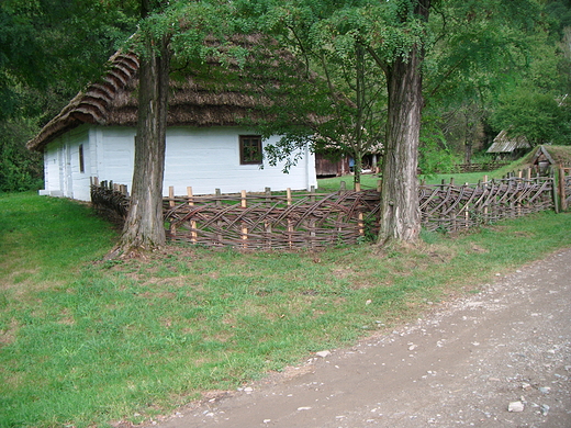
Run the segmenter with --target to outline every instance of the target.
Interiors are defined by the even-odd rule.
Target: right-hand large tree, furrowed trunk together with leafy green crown
[[[234,4],[239,8],[242,3]],[[534,37],[545,31],[540,4],[533,0],[517,4],[502,0],[289,0],[248,2],[242,10],[261,16],[259,22],[268,31],[321,70],[335,69],[337,59],[337,70],[347,76],[338,58],[350,58],[357,65],[365,54],[367,63],[361,59],[360,64],[377,70],[377,88],[385,85],[380,244],[418,237],[416,169],[422,110],[427,106],[433,117],[462,105],[466,113],[478,113],[464,115],[472,128],[464,140],[470,158],[478,115],[483,117],[484,108],[506,83],[520,78],[522,70],[530,66],[526,54]],[[347,89],[357,88],[358,76],[345,82],[338,79],[337,88],[350,93]],[[354,91],[349,97],[358,105],[359,99],[372,94]],[[376,113],[383,109],[380,102],[367,102],[374,105]],[[358,140],[361,116],[352,114],[351,119],[350,135]],[[441,135],[425,134],[425,140],[434,144]]]

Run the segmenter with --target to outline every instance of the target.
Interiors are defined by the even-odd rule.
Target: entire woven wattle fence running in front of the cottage
[[[571,171],[571,170],[570,170]],[[567,192],[567,193],[566,193]],[[560,196],[562,195],[562,196]],[[507,177],[478,184],[454,182],[421,184],[422,225],[428,230],[457,232],[477,225],[516,218],[546,210],[559,211],[571,198],[571,177],[559,185],[553,177]],[[128,206],[126,189],[94,183],[92,201],[107,213],[124,217]],[[568,201],[568,202],[566,202]],[[378,190],[340,190],[335,193],[271,192],[187,195],[164,199],[167,236],[204,247],[242,249],[322,248],[356,244],[379,232]]]

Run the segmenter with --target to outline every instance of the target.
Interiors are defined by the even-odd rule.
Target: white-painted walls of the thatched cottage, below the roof
[[[282,172],[283,165],[271,167],[239,164],[239,135],[251,135],[245,128],[176,127],[167,132],[164,195],[169,187],[186,194],[234,193],[240,190],[309,189],[317,184],[315,159],[305,150],[305,158]],[[46,192],[89,201],[90,178],[127,184],[131,191],[134,164],[135,129],[130,127],[80,126],[56,140],[44,151]],[[264,144],[276,143],[271,138]],[[85,171],[79,168],[79,145],[83,146]]]

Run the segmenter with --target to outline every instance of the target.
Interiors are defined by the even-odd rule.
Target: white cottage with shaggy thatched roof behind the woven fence
[[[110,64],[101,82],[79,93],[27,143],[30,149],[44,154],[41,194],[89,201],[92,178],[131,187],[138,60],[134,54],[119,53]],[[189,185],[194,194],[316,185],[315,159],[307,148],[283,173],[282,165],[270,166],[262,157],[264,147],[279,137],[262,140],[244,125],[261,117],[261,104],[268,100],[239,90],[239,78],[234,87],[222,87],[215,75],[189,71],[171,85],[165,195],[171,185],[176,194],[186,194]]]

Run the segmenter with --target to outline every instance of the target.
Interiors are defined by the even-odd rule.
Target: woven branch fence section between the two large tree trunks
[[[171,196],[165,209],[172,240],[244,249],[321,248],[376,234],[379,193]]]

